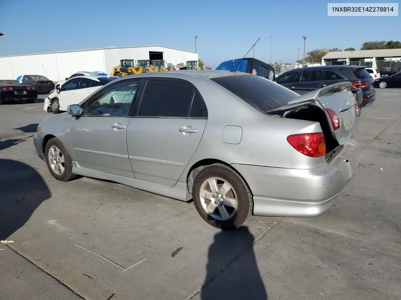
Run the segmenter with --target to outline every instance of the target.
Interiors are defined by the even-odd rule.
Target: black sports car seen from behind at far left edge
[[[16,80],[0,80],[0,104],[23,100],[33,103],[38,98],[36,87],[28,84],[20,84]]]

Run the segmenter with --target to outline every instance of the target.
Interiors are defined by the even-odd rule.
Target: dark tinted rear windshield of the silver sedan
[[[284,86],[259,76],[237,75],[211,80],[263,113],[285,106],[290,100],[299,97]]]

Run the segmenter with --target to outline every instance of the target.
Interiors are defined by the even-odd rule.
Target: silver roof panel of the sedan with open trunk
[[[230,71],[222,71],[222,70],[174,70],[167,72],[146,72],[142,74],[138,74],[141,77],[167,77],[167,78],[176,78],[177,75],[188,75],[188,76],[196,76],[201,78],[213,79],[218,77],[227,77],[227,76],[239,76],[239,75],[249,75],[255,76],[249,73],[244,72],[230,72]],[[136,76],[136,75],[131,75]],[[121,77],[126,78],[126,76]]]

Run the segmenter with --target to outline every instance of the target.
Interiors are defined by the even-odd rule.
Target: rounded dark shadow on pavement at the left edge
[[[0,240],[7,240],[32,216],[51,192],[32,167],[0,158]]]

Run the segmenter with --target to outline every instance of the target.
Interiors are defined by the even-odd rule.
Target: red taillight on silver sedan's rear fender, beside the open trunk
[[[326,139],[323,132],[292,134],[287,137],[290,145],[309,157],[319,157],[326,154]]]

